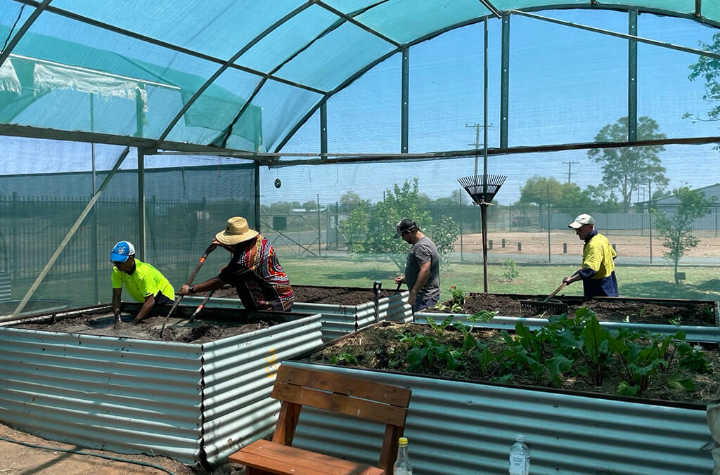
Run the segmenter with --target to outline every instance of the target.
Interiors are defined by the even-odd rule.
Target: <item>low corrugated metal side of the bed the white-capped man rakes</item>
[[[448,314],[448,313],[431,313],[418,312],[415,314],[415,321],[423,324],[427,322],[427,317],[433,318],[436,322],[444,320],[448,315],[454,315],[453,321],[463,322],[466,325],[472,325],[467,320],[467,314]],[[523,317],[494,317],[490,322],[477,322],[476,328],[495,328],[497,330],[515,330],[518,321],[531,330],[537,330],[547,325],[545,318],[523,318]],[[651,333],[660,333],[660,335],[672,335],[678,330],[685,332],[685,340],[697,343],[720,343],[720,327],[696,327],[691,325],[655,325],[652,323],[626,323],[626,322],[600,322],[600,325],[608,330],[619,330],[620,328],[630,328],[631,330],[647,330]]]

